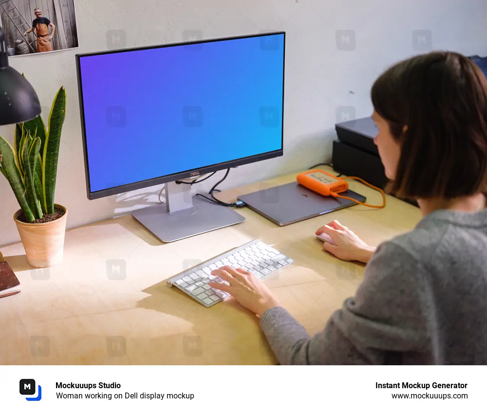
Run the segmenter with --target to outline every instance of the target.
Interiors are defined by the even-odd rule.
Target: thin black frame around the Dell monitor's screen
[[[222,162],[219,164],[213,164],[208,166],[203,166],[199,169],[191,169],[187,171],[180,171],[174,174],[164,175],[161,177],[150,178],[148,180],[138,181],[136,183],[125,184],[118,187],[107,188],[98,191],[91,190],[90,184],[90,169],[88,163],[88,149],[87,149],[87,142],[86,142],[86,125],[85,125],[85,116],[84,116],[84,101],[83,101],[83,89],[82,89],[82,80],[81,80],[81,68],[80,68],[80,58],[87,57],[87,56],[100,56],[100,55],[109,55],[114,53],[123,53],[123,52],[135,52],[140,50],[149,50],[149,49],[161,49],[165,47],[174,47],[174,46],[185,46],[185,45],[192,45],[192,44],[200,44],[200,43],[210,43],[210,42],[217,42],[217,41],[225,41],[225,40],[237,40],[237,39],[244,39],[244,38],[257,38],[263,36],[271,36],[271,35],[284,35],[283,39],[283,56],[282,56],[282,124],[281,124],[281,149],[265,152],[262,154],[252,155],[249,157],[244,157],[236,160],[230,160],[226,162]],[[220,171],[223,169],[230,169],[236,168],[239,166],[243,166],[246,164],[251,164],[258,161],[264,161],[271,158],[280,157],[284,154],[284,74],[285,74],[285,59],[286,59],[286,32],[265,32],[253,35],[242,35],[242,36],[234,36],[234,37],[225,37],[225,38],[212,38],[212,39],[202,39],[202,40],[194,40],[194,41],[187,41],[187,42],[177,42],[177,43],[168,43],[163,45],[152,45],[152,46],[143,46],[143,47],[134,47],[134,48],[124,48],[124,49],[116,49],[116,50],[109,50],[109,51],[100,51],[100,52],[91,52],[91,53],[82,53],[76,54],[76,75],[77,75],[77,85],[78,85],[78,98],[79,98],[79,109],[80,109],[80,120],[81,120],[81,134],[82,134],[82,141],[83,141],[83,156],[84,156],[84,164],[85,164],[85,179],[86,179],[86,194],[89,200],[96,200],[99,198],[109,197],[111,195],[120,194],[123,192],[129,192],[138,190],[141,188],[148,188],[157,186],[160,184],[166,184],[171,181],[179,181],[179,180],[186,180],[189,178],[195,178],[197,176],[201,176],[204,174],[208,174],[211,172]],[[163,162],[163,160],[161,160]]]

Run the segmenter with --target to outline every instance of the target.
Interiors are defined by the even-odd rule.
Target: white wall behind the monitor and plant
[[[68,207],[70,228],[150,205],[160,189],[95,201],[86,197],[75,53],[112,47],[107,46],[107,34],[109,43],[122,42],[114,45],[119,48],[182,41],[185,31],[199,31],[203,38],[287,32],[285,156],[233,169],[222,189],[330,161],[335,123],[372,112],[371,84],[393,62],[432,49],[487,55],[486,0],[75,0],[75,4],[78,49],[10,59],[33,84],[44,108],[50,107],[61,85],[66,87],[56,202]],[[351,35],[349,43],[338,47],[340,30]],[[414,30],[426,31],[422,38],[426,43],[414,44]],[[341,41],[341,35],[338,38]],[[13,127],[0,128],[0,135],[12,142]],[[0,245],[19,240],[12,220],[18,208],[0,177]]]

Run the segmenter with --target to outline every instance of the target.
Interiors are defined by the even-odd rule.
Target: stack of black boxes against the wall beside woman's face
[[[333,169],[349,176],[360,177],[384,189],[388,179],[379,152],[374,144],[378,129],[372,118],[360,118],[335,125],[338,141],[333,142]],[[413,206],[415,201],[404,200]]]

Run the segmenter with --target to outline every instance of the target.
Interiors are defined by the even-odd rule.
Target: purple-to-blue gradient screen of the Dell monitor
[[[79,57],[90,192],[282,149],[284,35]]]

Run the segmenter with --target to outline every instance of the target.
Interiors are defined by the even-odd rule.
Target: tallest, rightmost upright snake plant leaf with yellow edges
[[[66,90],[61,86],[54,99],[44,151],[42,154],[42,188],[44,193],[44,208],[47,214],[54,214],[54,194],[56,192],[57,160],[61,130],[66,115]]]

